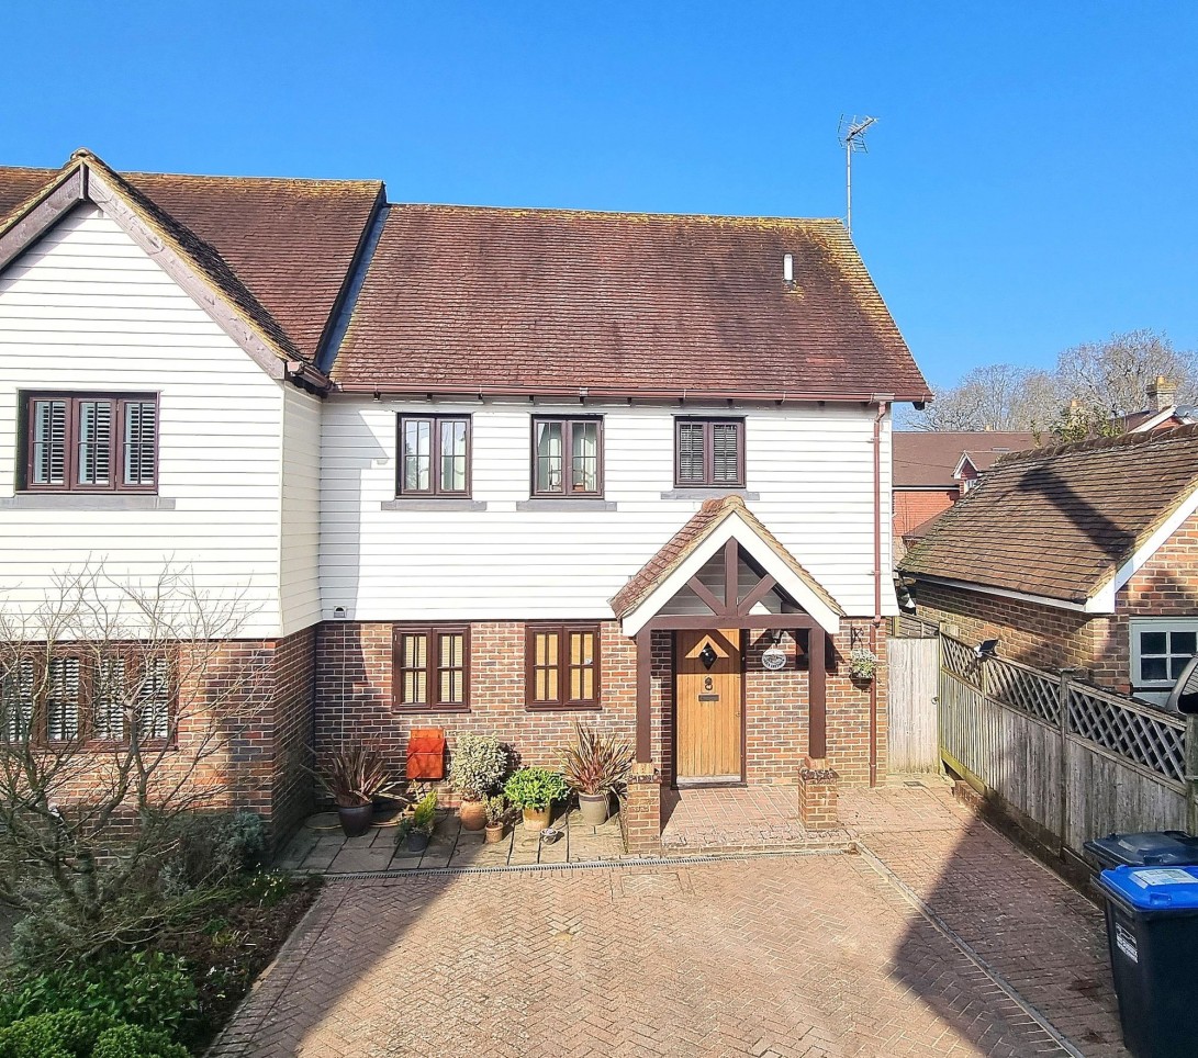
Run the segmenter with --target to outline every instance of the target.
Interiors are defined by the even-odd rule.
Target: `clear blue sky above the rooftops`
[[[395,201],[842,215],[933,383],[1198,346],[1198,4],[5,6],[0,162],[381,177]],[[17,105],[14,105],[14,103]]]

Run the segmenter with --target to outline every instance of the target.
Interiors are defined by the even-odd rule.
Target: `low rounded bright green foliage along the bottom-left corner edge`
[[[188,1058],[159,1032],[105,1014],[58,1010],[0,1029],[0,1058]]]

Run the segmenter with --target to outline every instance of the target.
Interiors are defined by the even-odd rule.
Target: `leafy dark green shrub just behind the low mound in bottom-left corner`
[[[0,998],[0,1024],[77,1010],[188,1039],[200,1003],[187,960],[162,951],[73,962],[26,978]]]

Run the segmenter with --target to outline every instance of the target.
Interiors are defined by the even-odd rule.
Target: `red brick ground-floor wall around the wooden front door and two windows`
[[[854,643],[869,645],[869,622],[859,622],[854,640],[846,625],[831,644],[828,675],[828,760],[848,785],[870,782],[870,685],[848,679],[848,652]],[[873,689],[878,710],[878,774],[885,773],[885,639],[878,633],[882,657]],[[522,762],[556,766],[562,748],[573,741],[575,718],[594,723],[629,742],[636,736],[636,645],[615,621],[601,624],[601,709],[594,711],[530,710],[525,705],[525,626],[521,622],[476,622],[470,628],[468,711],[412,712],[392,699],[391,622],[328,622],[316,640],[316,750],[320,759],[343,742],[377,742],[397,772],[403,773],[409,732],[435,726],[454,738],[466,731],[497,735]],[[780,671],[761,667],[768,644],[760,632],[745,633],[745,772],[750,784],[798,782],[807,752],[807,674],[798,661],[795,640],[781,644],[791,664]],[[654,764],[665,782],[673,774],[673,647],[672,634],[653,637],[652,746]]]

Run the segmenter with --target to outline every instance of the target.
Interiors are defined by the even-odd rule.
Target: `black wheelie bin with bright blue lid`
[[[1198,867],[1117,867],[1097,884],[1124,1044],[1136,1058],[1194,1058]]]

